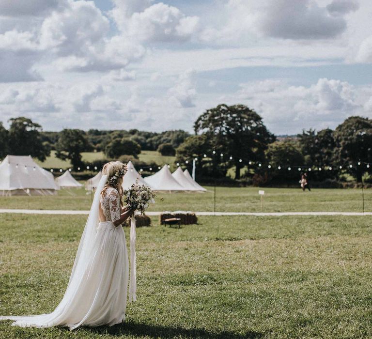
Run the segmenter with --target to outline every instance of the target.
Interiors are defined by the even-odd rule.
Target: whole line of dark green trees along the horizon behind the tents
[[[205,178],[223,178],[233,168],[236,180],[248,178],[263,185],[297,178],[297,167],[316,170],[324,166],[328,170],[316,170],[312,177],[338,180],[346,173],[360,182],[368,172],[366,163],[372,163],[372,120],[359,116],[347,118],[334,130],[309,129],[284,140],[278,140],[262,117],[245,105],[222,104],[205,110],[194,123],[194,135],[183,130],[154,133],[137,129],[44,132],[24,117],[9,123],[8,130],[0,123],[1,157],[30,154],[44,161],[55,150],[57,157],[69,159],[75,169],[84,165],[82,152],[103,151],[104,162],[122,155],[138,158],[142,150],[157,150],[175,155],[175,163],[183,165],[197,158],[198,175]],[[296,168],[290,171],[290,166]]]

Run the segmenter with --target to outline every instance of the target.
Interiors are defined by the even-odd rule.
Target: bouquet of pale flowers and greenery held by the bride
[[[144,214],[149,203],[155,202],[155,193],[150,187],[140,185],[137,180],[129,189],[124,190],[123,200],[130,208]]]

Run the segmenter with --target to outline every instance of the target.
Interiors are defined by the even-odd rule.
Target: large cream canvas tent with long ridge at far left
[[[7,155],[0,164],[0,195],[52,195],[58,186],[53,174],[37,165],[30,155]]]

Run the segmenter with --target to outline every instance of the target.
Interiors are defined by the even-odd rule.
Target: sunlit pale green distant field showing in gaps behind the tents
[[[68,169],[71,167],[70,161],[63,161],[61,159],[56,158],[56,152],[51,151],[50,156],[47,157],[47,160],[41,162],[35,159],[36,163],[40,166],[45,168],[61,168],[61,169]],[[83,161],[91,162],[94,160],[104,159],[106,158],[103,152],[83,152],[82,154]],[[164,164],[171,164],[173,165],[175,157],[174,156],[163,156],[156,151],[142,151],[139,155],[139,160],[145,162],[152,162],[154,161],[158,165]]]

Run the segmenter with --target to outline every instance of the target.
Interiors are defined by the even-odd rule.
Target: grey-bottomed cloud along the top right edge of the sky
[[[208,27],[202,31],[201,39],[217,44],[248,44],[263,37],[331,39],[346,30],[343,15],[357,8],[354,0],[334,0],[329,7],[322,7],[315,0],[229,0],[225,5],[227,22],[222,28]]]

